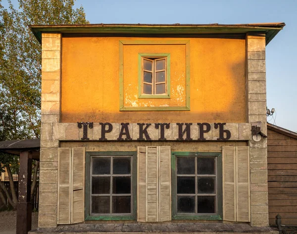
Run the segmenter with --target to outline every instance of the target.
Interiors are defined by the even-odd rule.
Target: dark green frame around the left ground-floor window
[[[131,214],[128,215],[90,215],[90,166],[92,156],[131,156]],[[136,151],[105,151],[105,152],[86,152],[86,175],[85,175],[85,220],[136,220],[137,219],[137,152]]]

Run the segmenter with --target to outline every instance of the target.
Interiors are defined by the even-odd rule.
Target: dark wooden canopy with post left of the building
[[[19,194],[16,216],[16,234],[31,231],[31,173],[32,159],[40,158],[40,140],[6,140],[0,141],[0,151],[20,156]]]

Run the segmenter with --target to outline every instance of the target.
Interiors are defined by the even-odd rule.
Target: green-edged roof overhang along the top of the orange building
[[[97,34],[104,36],[194,36],[198,34],[246,34],[266,35],[266,45],[283,29],[285,23],[257,24],[80,24],[80,25],[29,25],[41,43],[42,33]]]

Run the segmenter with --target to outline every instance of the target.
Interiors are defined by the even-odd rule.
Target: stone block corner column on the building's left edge
[[[61,40],[59,33],[42,34],[39,228],[57,226],[59,140],[52,129],[60,121]]]

